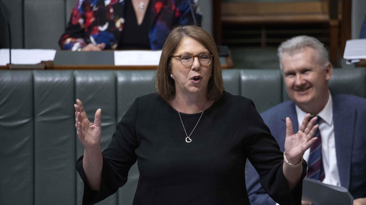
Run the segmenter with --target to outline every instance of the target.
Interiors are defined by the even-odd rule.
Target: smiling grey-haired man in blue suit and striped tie
[[[333,68],[324,45],[317,39],[309,36],[288,39],[280,45],[278,55],[291,100],[268,109],[261,116],[281,151],[284,151],[286,117],[290,117],[296,133],[306,113],[318,116],[322,162],[319,166],[325,174],[318,180],[346,187],[355,199],[354,205],[366,205],[366,99],[329,91]],[[313,155],[313,151],[309,152],[310,148],[303,155],[309,164],[308,173],[309,155]],[[263,190],[250,163],[246,182],[251,204],[276,204]],[[312,202],[302,201],[302,204]]]

